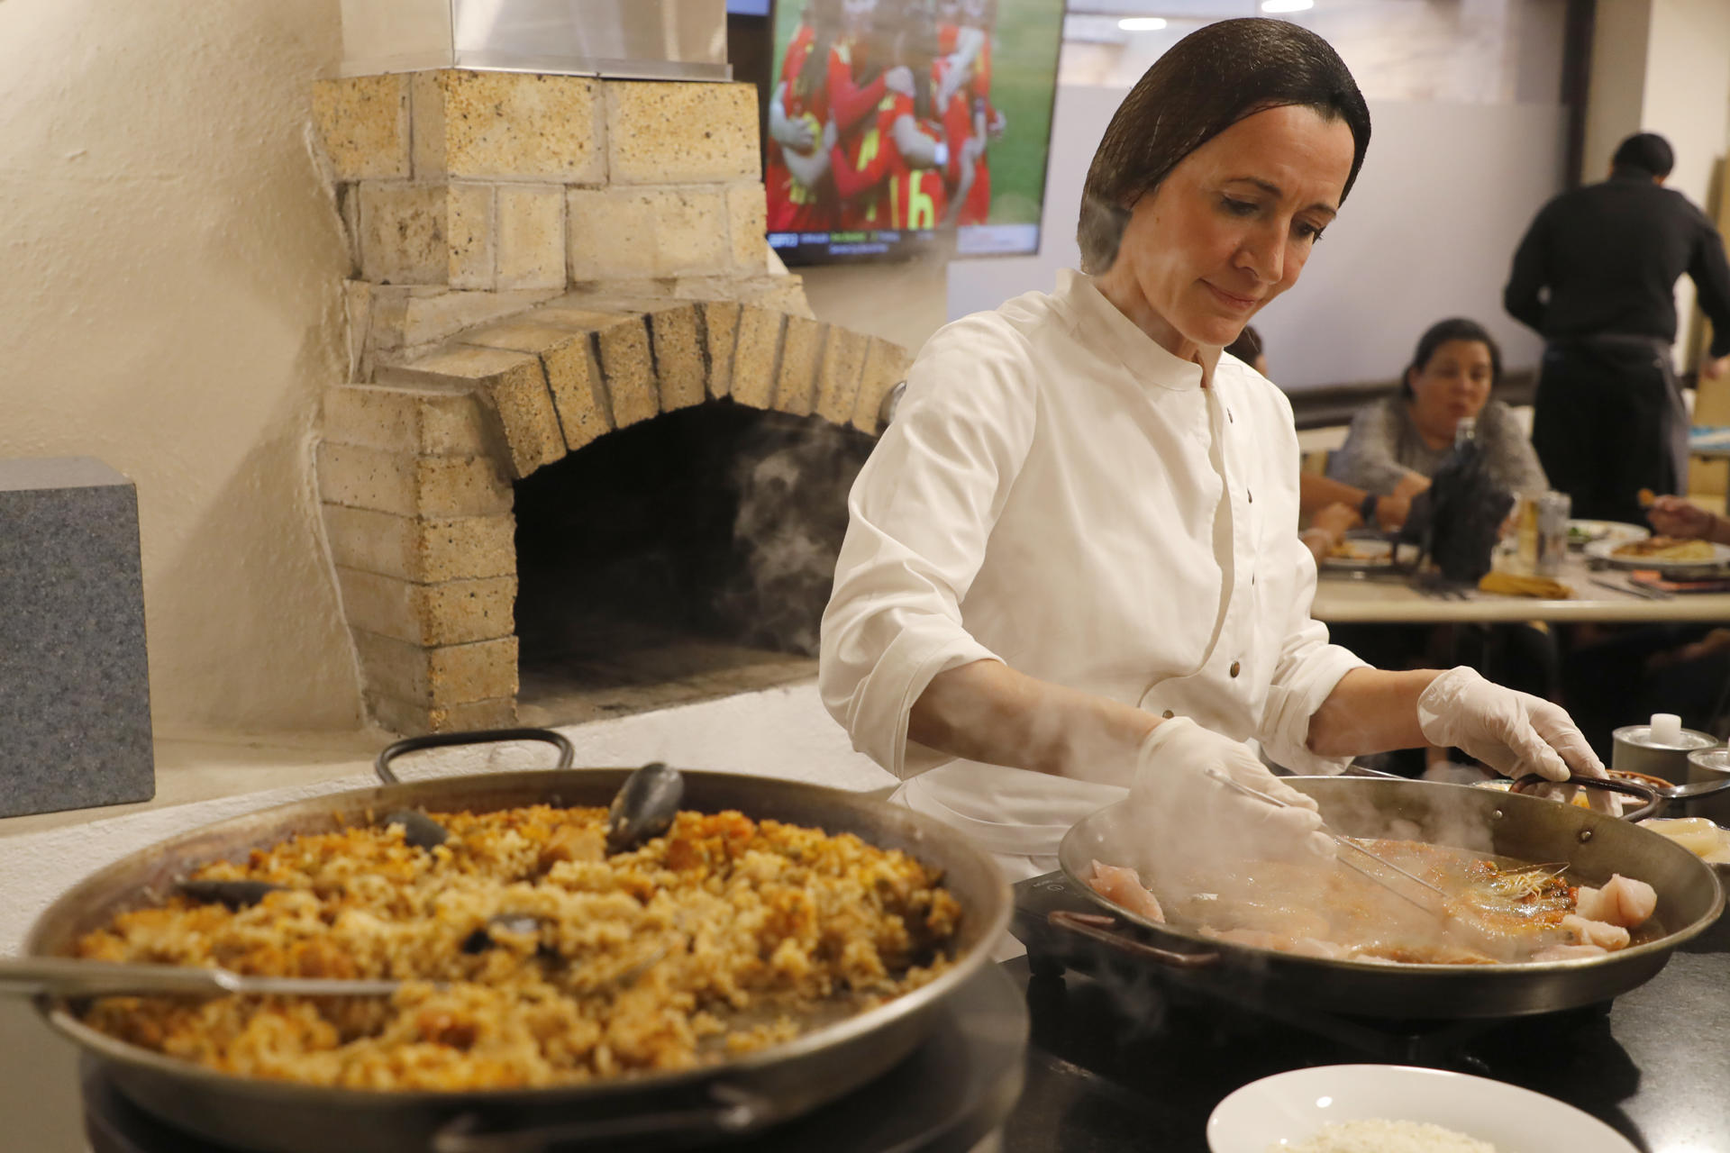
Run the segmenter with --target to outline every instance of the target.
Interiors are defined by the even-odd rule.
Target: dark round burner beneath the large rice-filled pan
[[[972,1150],[1003,1124],[1021,1096],[1028,1008],[1016,982],[993,965],[957,989],[938,1008],[938,1016],[926,1042],[893,1070],[813,1113],[753,1134],[749,1148],[754,1153]],[[83,1058],[81,1082],[85,1134],[92,1153],[261,1153],[213,1144],[164,1124],[126,1099],[102,1063],[88,1054]],[[626,1146],[607,1143],[607,1148]],[[628,1148],[668,1150],[690,1144]]]

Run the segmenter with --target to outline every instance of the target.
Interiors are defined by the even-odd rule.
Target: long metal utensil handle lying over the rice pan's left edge
[[[0,958],[0,994],[33,997],[228,994],[285,997],[388,997],[394,980],[318,980],[311,977],[242,977],[225,968],[190,965],[121,965],[76,958]]]

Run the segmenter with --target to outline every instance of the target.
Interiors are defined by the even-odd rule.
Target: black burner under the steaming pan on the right
[[[1239,1032],[1244,1037],[1256,1037],[1270,1022],[1278,1022],[1379,1061],[1467,1072],[1481,1072],[1481,1061],[1465,1051],[1469,1042],[1503,1023],[1493,1018],[1351,1016],[1301,1003],[1258,997],[1254,985],[1246,982],[1220,989],[1208,978],[1197,980],[1182,970],[1137,963],[1105,944],[1054,927],[1048,921],[1052,913],[1083,916],[1099,913],[1099,904],[1080,892],[1064,873],[1019,882],[1014,885],[1014,894],[1010,932],[1028,946],[1028,968],[1033,978],[1029,997],[1041,996],[1041,984],[1060,984],[1066,971],[1076,971],[1105,989],[1121,991],[1124,1001],[1135,1004],[1135,1015],[1145,1015],[1149,1006],[1159,1015],[1201,1011],[1216,1029]],[[1605,1003],[1571,1013],[1602,1015],[1607,1008]]]

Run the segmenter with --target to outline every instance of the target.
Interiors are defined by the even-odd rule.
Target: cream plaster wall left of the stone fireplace
[[[304,133],[339,50],[336,0],[0,3],[0,456],[137,484],[159,728],[358,724],[310,462],[344,258]]]

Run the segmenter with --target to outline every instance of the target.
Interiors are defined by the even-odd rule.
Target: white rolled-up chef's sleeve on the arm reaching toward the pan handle
[[[1299,565],[1296,612],[1291,617],[1280,657],[1268,686],[1268,704],[1256,738],[1275,764],[1292,773],[1332,776],[1344,773],[1351,757],[1322,757],[1310,752],[1310,717],[1329,698],[1339,679],[1368,664],[1327,640],[1327,626],[1310,615],[1315,600],[1315,558],[1303,541],[1292,539],[1292,564]]]

